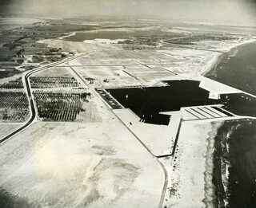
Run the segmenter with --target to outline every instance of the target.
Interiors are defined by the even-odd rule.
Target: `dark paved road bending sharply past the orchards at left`
[[[36,112],[35,112],[35,107],[34,107],[34,100],[32,98],[32,92],[31,92],[31,88],[30,88],[29,77],[33,73],[38,73],[42,70],[49,69],[50,67],[53,67],[55,65],[60,65],[60,64],[63,64],[67,61],[72,61],[72,60],[74,60],[78,57],[83,57],[85,55],[86,55],[85,53],[82,53],[82,54],[79,54],[79,55],[74,56],[74,57],[69,57],[69,58],[63,59],[62,61],[56,61],[56,62],[51,63],[49,65],[39,67],[37,69],[34,69],[34,70],[26,73],[26,75],[25,75],[25,88],[26,88],[26,93],[27,93],[27,96],[28,96],[28,99],[29,99],[29,102],[30,102],[30,111],[31,111],[30,120],[28,120],[26,122],[26,124],[22,125],[22,127],[18,128],[17,130],[11,132],[9,135],[6,135],[4,138],[0,139],[0,143],[3,143],[4,141],[6,141],[6,139],[10,139],[10,137],[12,137],[13,135],[18,134],[19,131],[22,131],[24,128],[28,127],[34,121],[34,118],[36,116]]]

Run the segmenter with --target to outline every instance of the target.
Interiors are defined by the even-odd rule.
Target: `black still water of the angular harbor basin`
[[[168,125],[170,116],[159,112],[179,111],[181,107],[221,104],[210,100],[209,92],[195,80],[166,80],[169,86],[106,89],[122,106],[130,108],[144,123]]]

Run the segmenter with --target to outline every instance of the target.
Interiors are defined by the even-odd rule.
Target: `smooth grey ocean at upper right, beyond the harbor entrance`
[[[224,53],[205,77],[256,95],[256,41]]]

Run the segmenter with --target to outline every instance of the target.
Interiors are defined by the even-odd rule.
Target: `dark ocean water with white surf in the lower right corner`
[[[226,121],[215,137],[214,178],[217,207],[256,207],[256,121]]]

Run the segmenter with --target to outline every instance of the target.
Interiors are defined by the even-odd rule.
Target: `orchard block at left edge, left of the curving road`
[[[0,120],[26,120],[30,109],[25,92],[0,92],[0,97]]]

